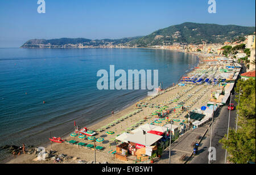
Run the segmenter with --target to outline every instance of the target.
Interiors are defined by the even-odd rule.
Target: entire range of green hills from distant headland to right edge
[[[172,45],[175,42],[183,44],[221,43],[232,41],[255,32],[255,27],[238,25],[218,25],[183,23],[159,29],[147,36],[126,37],[123,39],[33,39],[25,42],[21,48],[82,48],[135,46],[147,47],[153,45]]]

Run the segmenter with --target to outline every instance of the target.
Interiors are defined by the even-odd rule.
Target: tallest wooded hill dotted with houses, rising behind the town
[[[129,42],[130,46],[171,45],[174,42],[187,44],[221,43],[234,40],[237,37],[250,35],[255,27],[242,27],[238,25],[218,25],[183,23],[159,29],[150,35]]]

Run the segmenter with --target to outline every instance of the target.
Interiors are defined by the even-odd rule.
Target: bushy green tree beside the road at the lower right
[[[255,79],[238,80],[235,91],[240,95],[239,118],[237,133],[235,129],[229,130],[227,135],[220,140],[222,148],[227,149],[228,159],[232,163],[245,164],[255,162]],[[236,96],[238,101],[238,96]]]

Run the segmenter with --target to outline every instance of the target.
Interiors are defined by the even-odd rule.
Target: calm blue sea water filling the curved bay
[[[159,70],[163,87],[197,59],[151,49],[0,49],[0,146],[40,144],[86,126],[147,95],[145,90],[98,90],[97,71]],[[43,104],[46,101],[46,104]]]

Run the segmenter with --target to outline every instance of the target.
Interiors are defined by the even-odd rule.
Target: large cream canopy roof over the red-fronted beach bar
[[[145,139],[146,136],[146,139]],[[151,133],[146,133],[145,135],[143,134],[143,131],[137,132],[134,134],[131,134],[127,136],[125,140],[137,144],[141,144],[143,146],[151,146],[155,142],[158,142],[163,136],[156,135],[156,134],[151,134]]]

